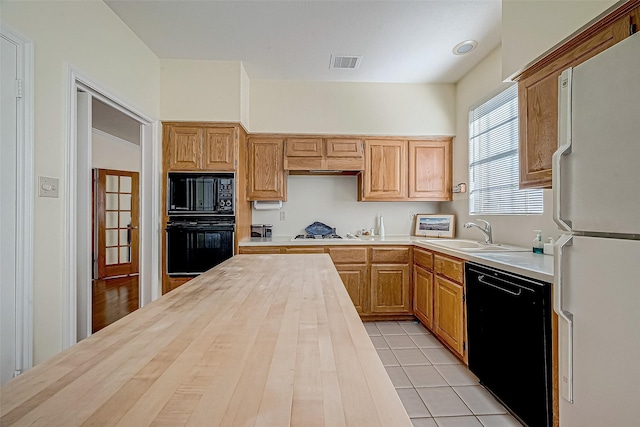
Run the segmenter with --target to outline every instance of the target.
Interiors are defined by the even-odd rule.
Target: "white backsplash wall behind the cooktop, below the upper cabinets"
[[[274,236],[304,233],[314,221],[336,227],[338,234],[356,233],[371,227],[378,232],[378,217],[384,217],[387,235],[413,234],[412,212],[439,213],[440,202],[358,202],[358,178],[355,176],[287,177],[287,202],[281,210],[252,209],[252,223],[273,224]],[[280,220],[284,212],[285,220]]]

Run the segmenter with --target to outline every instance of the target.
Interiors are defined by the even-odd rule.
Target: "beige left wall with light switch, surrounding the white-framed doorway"
[[[153,118],[160,63],[101,1],[3,1],[2,22],[34,42],[34,174],[60,178],[59,198],[34,201],[34,362],[40,363],[62,350],[67,65]]]

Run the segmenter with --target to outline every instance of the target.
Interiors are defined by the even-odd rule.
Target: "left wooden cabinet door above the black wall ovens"
[[[200,169],[202,128],[170,126],[165,153],[168,157],[168,170]]]

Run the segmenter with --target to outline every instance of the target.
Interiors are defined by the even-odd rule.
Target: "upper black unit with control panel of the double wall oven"
[[[167,214],[233,216],[234,190],[232,173],[169,172]]]

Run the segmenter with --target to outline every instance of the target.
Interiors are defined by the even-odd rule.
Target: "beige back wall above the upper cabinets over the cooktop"
[[[252,80],[252,132],[453,135],[452,84]]]

